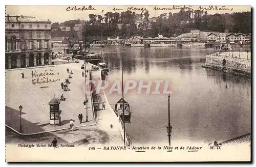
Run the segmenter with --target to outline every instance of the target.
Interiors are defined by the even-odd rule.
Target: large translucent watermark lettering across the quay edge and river
[[[91,88],[91,90],[90,90]],[[173,94],[171,83],[169,80],[123,80],[123,87],[121,80],[100,80],[93,79],[87,80],[83,84],[84,93],[95,94],[124,94],[137,93],[137,94]]]

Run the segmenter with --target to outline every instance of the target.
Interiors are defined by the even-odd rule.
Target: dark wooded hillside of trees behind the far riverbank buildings
[[[135,22],[143,20],[137,26]],[[190,30],[198,29],[200,31],[212,31],[221,33],[251,33],[251,12],[235,12],[225,14],[207,14],[202,10],[184,10],[178,13],[162,13],[158,17],[150,18],[148,12],[138,14],[131,11],[126,12],[107,12],[103,16],[89,14],[89,20],[69,20],[62,23],[52,23],[53,37],[63,35],[59,26],[71,27],[71,33],[68,36],[77,36],[73,31],[75,24],[82,24],[81,38],[84,35],[111,37],[119,35],[120,38],[127,38],[133,35],[143,37],[157,37],[158,34],[164,37],[177,37],[183,33],[189,33]],[[84,27],[85,26],[85,27]],[[118,26],[121,26],[120,29]]]

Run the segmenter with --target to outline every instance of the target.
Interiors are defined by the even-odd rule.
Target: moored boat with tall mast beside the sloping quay
[[[115,112],[124,122],[131,123],[131,107],[123,98],[115,104]]]

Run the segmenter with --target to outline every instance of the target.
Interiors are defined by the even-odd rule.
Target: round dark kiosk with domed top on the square
[[[55,96],[49,102],[49,105],[50,105],[50,125],[60,125],[59,104],[60,104],[60,101]]]

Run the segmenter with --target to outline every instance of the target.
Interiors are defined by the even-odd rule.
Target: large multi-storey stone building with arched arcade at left
[[[35,17],[5,17],[6,69],[51,64],[51,22]]]

